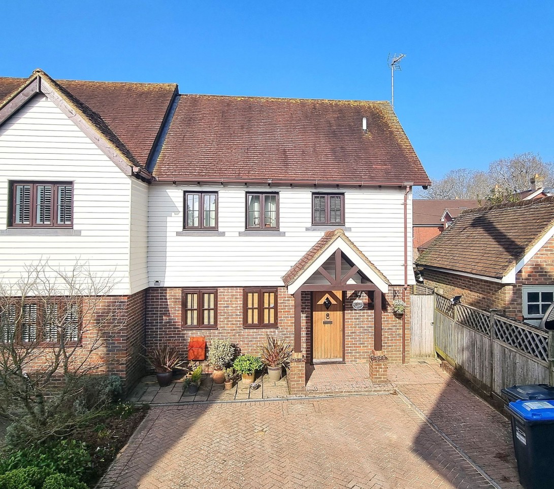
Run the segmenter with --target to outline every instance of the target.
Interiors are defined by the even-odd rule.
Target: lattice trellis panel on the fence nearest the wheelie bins
[[[494,337],[518,350],[548,361],[548,334],[520,326],[515,322],[494,317]]]

